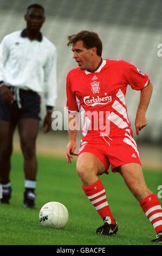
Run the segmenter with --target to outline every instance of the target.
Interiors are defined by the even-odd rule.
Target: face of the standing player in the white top
[[[25,21],[27,21],[27,28],[30,31],[40,31],[43,22],[45,21],[43,10],[39,8],[30,8],[28,13],[25,14]]]

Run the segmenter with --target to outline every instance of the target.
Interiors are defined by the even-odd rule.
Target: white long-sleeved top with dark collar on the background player
[[[44,93],[47,106],[55,106],[56,47],[40,34],[30,40],[24,31],[6,35],[2,40],[0,81],[8,86]]]

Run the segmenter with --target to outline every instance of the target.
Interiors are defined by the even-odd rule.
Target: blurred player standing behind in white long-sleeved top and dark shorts
[[[47,114],[44,133],[51,127],[51,112],[56,100],[56,47],[40,32],[45,21],[44,8],[28,7],[24,16],[27,27],[2,40],[3,65],[0,74],[0,182],[1,203],[11,197],[10,157],[12,138],[18,124],[24,156],[24,206],[35,208],[36,138],[40,120],[41,97],[46,93]]]

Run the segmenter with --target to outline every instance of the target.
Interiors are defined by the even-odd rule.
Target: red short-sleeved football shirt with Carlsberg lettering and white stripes
[[[82,134],[95,138],[116,133],[131,126],[125,101],[129,84],[141,90],[148,76],[124,60],[103,59],[95,72],[75,68],[67,75],[67,107],[69,113],[80,112]]]

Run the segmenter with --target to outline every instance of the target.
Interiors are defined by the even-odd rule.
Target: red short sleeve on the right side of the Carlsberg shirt
[[[149,83],[149,78],[141,70],[134,65],[125,62],[124,76],[127,84],[129,84],[134,90],[141,90]]]

